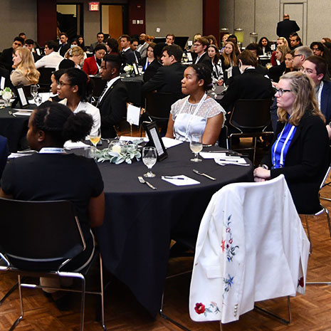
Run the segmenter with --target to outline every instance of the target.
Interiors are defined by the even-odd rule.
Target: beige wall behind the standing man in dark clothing
[[[234,28],[243,28],[244,46],[249,43],[250,32],[257,32],[258,39],[266,36],[275,40],[277,23],[283,19],[283,8],[294,9],[295,4],[301,11],[293,13],[292,17],[303,15],[300,4],[307,6],[303,26],[300,26],[300,36],[306,44],[331,36],[330,0],[220,0],[220,28],[229,28],[231,33]]]

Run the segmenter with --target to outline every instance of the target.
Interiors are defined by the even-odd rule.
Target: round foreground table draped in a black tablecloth
[[[138,181],[137,177],[147,172],[142,162],[99,164],[105,184],[105,220],[103,226],[95,228],[95,234],[103,263],[153,317],[161,306],[171,238],[196,238],[211,196],[226,184],[253,181],[251,164],[220,166],[214,159],[191,162],[193,154],[188,143],[167,152],[168,158],[152,169],[157,177],[147,179],[157,190]],[[199,176],[192,169],[205,172],[216,181]],[[200,184],[175,186],[161,179],[164,175],[180,174]]]

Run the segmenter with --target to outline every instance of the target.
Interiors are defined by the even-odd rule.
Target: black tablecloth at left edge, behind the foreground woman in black
[[[28,132],[28,116],[17,116],[9,114],[12,108],[6,107],[0,109],[0,135],[8,140],[9,151],[17,152],[21,149],[21,139]]]

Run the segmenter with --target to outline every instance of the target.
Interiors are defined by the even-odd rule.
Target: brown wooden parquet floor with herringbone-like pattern
[[[331,187],[325,187],[322,195],[331,197]],[[331,210],[331,203],[322,201]],[[312,256],[308,266],[308,280],[331,281],[331,239],[325,215],[310,218],[312,236]],[[192,258],[172,258],[169,273],[177,273],[191,267]],[[93,270],[90,281],[97,281],[98,273]],[[218,322],[196,323],[190,320],[188,312],[190,275],[167,280],[164,312],[181,322],[192,331],[217,331]],[[14,275],[0,274],[0,297],[16,282]],[[88,284],[87,284],[88,286]],[[95,307],[98,298],[86,296],[85,330],[102,330],[95,322]],[[283,325],[273,318],[261,315],[255,310],[241,315],[237,322],[223,325],[224,331],[330,331],[331,330],[331,286],[308,285],[305,295],[291,298],[292,320]],[[17,331],[77,331],[80,330],[80,296],[73,295],[70,311],[61,312],[46,298],[41,290],[23,289],[25,316],[16,327]],[[259,305],[287,317],[285,298],[268,300]],[[0,305],[0,331],[9,330],[19,316],[19,293],[16,290]],[[153,320],[135,300],[125,285],[113,280],[107,288],[105,298],[105,322],[107,330],[169,331],[180,330],[167,320],[157,316]]]

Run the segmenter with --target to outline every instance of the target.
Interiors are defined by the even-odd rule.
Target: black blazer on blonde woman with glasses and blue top
[[[278,122],[271,148],[284,123]],[[271,169],[271,148],[261,164]],[[283,168],[271,169],[271,178],[285,176],[299,214],[315,214],[320,211],[318,191],[330,164],[329,137],[325,123],[318,116],[305,114],[288,147]]]

